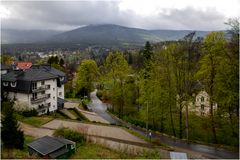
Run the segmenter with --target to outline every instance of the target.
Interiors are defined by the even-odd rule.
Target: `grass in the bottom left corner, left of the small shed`
[[[24,141],[24,149],[4,149],[4,147],[1,150],[1,159],[29,159],[33,158],[28,155],[28,149],[27,144],[32,142],[34,140],[33,137],[24,135],[25,141]]]

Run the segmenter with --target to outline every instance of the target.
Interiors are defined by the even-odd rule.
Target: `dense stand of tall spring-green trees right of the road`
[[[198,38],[192,32],[178,41],[146,42],[140,51],[109,53],[103,64],[83,60],[66,95],[87,96],[95,85],[110,112],[128,122],[180,139],[237,147],[239,21],[227,25],[227,35]],[[210,109],[200,116],[189,107],[202,90]]]

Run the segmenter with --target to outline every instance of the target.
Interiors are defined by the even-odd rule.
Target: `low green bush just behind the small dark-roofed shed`
[[[82,133],[70,130],[68,128],[59,128],[54,132],[54,136],[63,137],[74,141],[78,144],[84,144],[86,142],[86,136]]]

